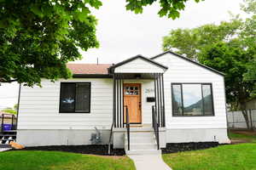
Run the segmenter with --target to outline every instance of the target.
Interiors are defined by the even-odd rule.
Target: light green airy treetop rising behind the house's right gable
[[[220,25],[207,24],[194,29],[177,29],[163,37],[163,50],[172,50],[190,59],[196,59],[201,49],[215,42],[229,41],[241,28],[241,19],[234,18]]]

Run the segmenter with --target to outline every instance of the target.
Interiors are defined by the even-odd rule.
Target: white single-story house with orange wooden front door
[[[91,144],[96,127],[101,144],[108,144],[112,124],[113,147],[131,145],[131,151],[157,150],[166,143],[230,142],[221,72],[170,51],[115,65],[67,67],[72,79],[21,87],[18,143]]]

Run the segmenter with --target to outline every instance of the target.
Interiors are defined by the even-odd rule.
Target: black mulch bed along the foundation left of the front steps
[[[12,150],[15,150],[15,149],[12,149]],[[12,151],[12,150],[9,150],[9,151]],[[26,147],[22,150],[66,151],[66,152],[73,152],[73,153],[79,153],[79,154],[109,156],[108,144],[37,146],[37,147]],[[113,146],[112,146],[110,156],[125,156],[125,150],[113,149]]]

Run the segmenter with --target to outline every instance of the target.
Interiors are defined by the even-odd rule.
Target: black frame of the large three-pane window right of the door
[[[174,114],[174,107],[173,107],[173,98],[174,98],[174,96],[173,96],[173,88],[172,88],[172,86],[173,85],[180,85],[180,87],[181,87],[181,97],[182,97],[182,108],[183,108],[183,84],[199,84],[199,85],[201,85],[201,96],[202,96],[202,102],[203,102],[203,104],[202,104],[202,113],[203,113],[203,115],[195,115],[195,116],[215,116],[215,111],[214,111],[214,100],[213,100],[213,91],[212,91],[212,82],[172,82],[171,83],[171,92],[172,92],[172,116],[181,116],[181,117],[183,117],[183,116],[189,116],[189,115],[184,115],[184,111],[182,111],[182,115],[177,115],[177,114]],[[210,87],[211,87],[211,94],[212,94],[212,115],[206,115],[205,114],[205,109],[204,109],[204,99],[203,99],[203,92],[202,92],[202,90],[203,90],[203,85],[210,85]]]

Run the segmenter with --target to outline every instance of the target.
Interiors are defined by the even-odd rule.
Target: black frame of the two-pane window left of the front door
[[[91,82],[61,82],[61,84],[89,84],[89,111],[76,111],[76,105],[74,105],[74,111],[61,111],[61,88],[60,88],[60,99],[59,99],[59,113],[73,113],[73,114],[88,114],[90,113],[90,98],[91,98]],[[61,86],[60,84],[60,86]],[[62,86],[61,86],[62,87]],[[76,86],[75,86],[75,96],[76,96]],[[76,97],[74,98],[74,103],[76,102]]]

